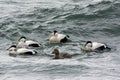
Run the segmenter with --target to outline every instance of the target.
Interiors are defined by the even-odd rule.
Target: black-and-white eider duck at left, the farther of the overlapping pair
[[[29,47],[40,47],[40,43],[36,42],[36,41],[32,41],[32,40],[26,40],[25,36],[22,36],[19,40],[18,40],[18,47],[25,47],[25,46],[29,46]]]

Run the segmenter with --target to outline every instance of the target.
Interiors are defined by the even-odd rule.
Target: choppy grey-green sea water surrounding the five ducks
[[[50,44],[53,30],[71,42]],[[38,55],[8,55],[22,35],[44,45]],[[87,40],[112,50],[85,53]],[[53,60],[55,47],[72,59]],[[120,0],[0,0],[0,80],[120,80]]]

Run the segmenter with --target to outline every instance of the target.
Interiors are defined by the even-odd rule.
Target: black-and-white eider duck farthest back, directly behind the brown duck
[[[69,38],[68,35],[59,34],[59,33],[57,33],[56,30],[54,30],[53,33],[51,34],[49,41],[51,43],[65,43],[69,40],[68,38]]]

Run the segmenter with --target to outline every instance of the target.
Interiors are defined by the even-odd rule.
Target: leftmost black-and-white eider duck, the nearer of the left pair
[[[19,48],[17,49],[16,45],[12,45],[10,46],[8,49],[9,51],[9,55],[11,56],[16,56],[16,55],[35,55],[37,54],[36,51],[31,50],[31,49],[27,49],[27,48]]]

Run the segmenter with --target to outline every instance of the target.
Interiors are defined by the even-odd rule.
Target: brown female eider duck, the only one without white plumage
[[[72,56],[68,53],[60,53],[58,49],[54,49],[52,54],[55,54],[53,59],[64,59],[64,58],[72,58]]]

